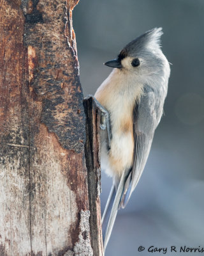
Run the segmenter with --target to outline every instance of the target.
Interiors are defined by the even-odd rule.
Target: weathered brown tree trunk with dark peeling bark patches
[[[99,156],[89,157],[99,141],[89,134],[85,158],[76,4],[0,0],[1,256],[103,255],[99,193],[91,190]]]

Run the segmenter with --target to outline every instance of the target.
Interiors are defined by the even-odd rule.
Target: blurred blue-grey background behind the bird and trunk
[[[163,27],[163,52],[173,64],[149,159],[118,213],[106,256],[163,254],[148,252],[150,246],[184,255],[190,253],[179,253],[180,246],[204,247],[203,13],[203,0],[81,0],[73,11],[84,96],[112,71],[105,61],[154,27]],[[102,212],[111,184],[102,173]]]

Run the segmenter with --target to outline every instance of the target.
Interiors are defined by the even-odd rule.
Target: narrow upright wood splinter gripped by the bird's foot
[[[101,230],[101,166],[100,166],[100,140],[99,125],[101,111],[97,108],[92,97],[84,100],[84,108],[87,116],[87,138],[85,143],[85,159],[88,172],[89,209],[91,212],[91,244],[98,256],[103,255],[103,240]]]

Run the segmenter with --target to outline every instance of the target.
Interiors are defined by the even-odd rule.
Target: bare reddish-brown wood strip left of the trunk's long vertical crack
[[[0,29],[0,255],[31,255],[29,88],[19,4],[0,1]]]

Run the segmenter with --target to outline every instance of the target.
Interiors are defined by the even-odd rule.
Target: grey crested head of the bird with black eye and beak
[[[162,28],[154,28],[138,36],[120,51],[116,59],[104,63],[108,67],[119,68],[126,74],[138,77],[163,75],[168,61],[161,51]]]

